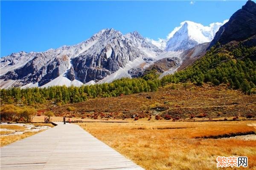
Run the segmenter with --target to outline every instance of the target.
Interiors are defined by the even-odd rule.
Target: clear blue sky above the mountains
[[[166,38],[184,20],[222,22],[246,1],[0,1],[1,51],[74,45],[103,28]]]

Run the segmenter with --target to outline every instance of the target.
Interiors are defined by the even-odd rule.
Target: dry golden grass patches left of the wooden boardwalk
[[[50,127],[53,127],[52,124],[50,123],[34,123],[33,125],[35,126],[50,126]],[[8,129],[8,130],[17,130],[17,131],[25,131],[26,128],[25,127],[22,127],[22,126],[17,126],[17,125],[0,125],[0,128],[3,128],[3,129]],[[29,136],[32,136],[36,133],[39,133],[39,132],[42,132],[44,130],[40,130],[38,132],[25,132],[23,134],[20,134],[20,135],[9,135],[9,136],[0,136],[0,147],[3,147],[5,145],[8,145],[8,144],[11,144],[13,142],[16,142],[20,139],[24,139],[26,137],[29,137]],[[1,135],[5,135],[5,134],[10,134],[9,131],[0,131],[1,132]]]

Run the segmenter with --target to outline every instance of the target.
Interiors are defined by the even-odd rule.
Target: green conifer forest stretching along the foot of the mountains
[[[217,44],[216,46],[220,46]],[[183,71],[158,79],[157,71],[150,71],[140,78],[123,78],[111,83],[84,85],[81,87],[53,86],[49,88],[1,89],[2,103],[83,102],[89,98],[129,95],[157,91],[168,83],[192,82],[202,85],[227,84],[250,95],[256,87],[256,47],[224,45],[212,47],[207,54]]]

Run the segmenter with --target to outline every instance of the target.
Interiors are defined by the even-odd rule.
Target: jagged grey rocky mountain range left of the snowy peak
[[[1,87],[97,82],[134,59],[153,60],[162,53],[136,31],[123,35],[114,29],[104,29],[77,45],[45,52],[22,51],[1,58]]]

